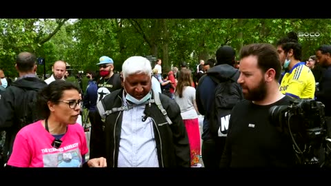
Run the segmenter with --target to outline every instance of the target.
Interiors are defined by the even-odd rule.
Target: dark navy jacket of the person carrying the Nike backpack
[[[217,86],[217,83],[214,82],[210,76],[207,76],[207,74],[214,74],[218,79],[231,78],[233,81],[237,81],[239,78],[239,72],[236,68],[228,64],[221,64],[210,68],[210,70],[199,79],[196,101],[199,113],[204,115],[203,134],[201,135],[203,140],[212,138],[212,136],[210,136],[210,117],[213,106],[212,103],[214,103],[214,92]]]

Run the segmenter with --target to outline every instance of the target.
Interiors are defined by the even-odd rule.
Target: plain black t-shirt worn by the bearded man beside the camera
[[[290,105],[290,96],[271,105],[255,105],[243,100],[232,110],[221,167],[293,166],[290,136],[270,123],[270,107]]]

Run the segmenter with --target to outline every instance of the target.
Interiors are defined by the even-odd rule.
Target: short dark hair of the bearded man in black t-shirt
[[[278,81],[281,76],[281,62],[279,61],[279,54],[273,45],[269,43],[253,43],[243,46],[240,51],[240,59],[250,55],[257,56],[257,66],[263,73],[270,68],[274,69],[276,72],[274,79]]]

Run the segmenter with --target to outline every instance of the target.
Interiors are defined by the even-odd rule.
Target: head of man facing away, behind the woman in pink
[[[16,57],[19,72],[30,72],[37,63],[37,57],[30,52],[21,52]]]

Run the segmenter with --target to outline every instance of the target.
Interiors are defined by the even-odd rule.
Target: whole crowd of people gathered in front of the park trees
[[[16,81],[0,70],[1,167],[330,166],[327,156],[300,159],[293,136],[270,121],[272,107],[310,99],[325,105],[331,127],[331,45],[307,60],[301,48],[290,32],[276,45],[244,45],[239,60],[222,45],[194,70],[185,61],[168,70],[161,59],[130,56],[120,73],[101,56],[99,74],[86,72],[86,90],[66,81],[65,61],[55,61],[42,80],[36,56],[21,52]]]

